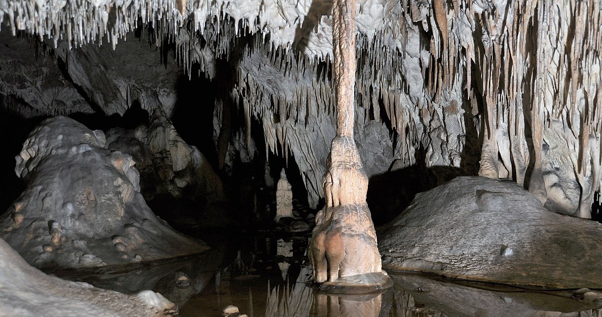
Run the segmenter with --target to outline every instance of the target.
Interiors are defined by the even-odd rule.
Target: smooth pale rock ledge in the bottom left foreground
[[[124,295],[61,280],[28,265],[0,239],[2,316],[167,316],[175,305],[158,293]]]

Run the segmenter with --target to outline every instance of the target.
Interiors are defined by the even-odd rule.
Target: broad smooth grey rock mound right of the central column
[[[602,286],[602,225],[547,211],[513,182],[457,177],[379,235],[383,268],[489,282]]]

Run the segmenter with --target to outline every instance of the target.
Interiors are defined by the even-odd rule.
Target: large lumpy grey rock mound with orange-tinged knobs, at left
[[[190,254],[206,246],[173,231],[139,192],[131,156],[104,149],[102,131],[45,120],[17,156],[27,188],[0,223],[36,266],[97,266]]]

